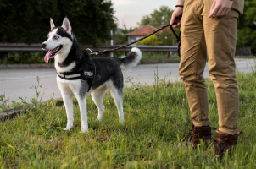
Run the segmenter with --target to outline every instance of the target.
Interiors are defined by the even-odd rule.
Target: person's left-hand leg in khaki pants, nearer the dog
[[[180,77],[186,88],[192,122],[196,127],[208,126],[208,96],[203,78],[206,63],[206,46],[201,0],[187,0],[181,20]]]

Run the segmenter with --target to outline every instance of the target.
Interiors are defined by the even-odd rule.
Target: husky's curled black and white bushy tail
[[[141,58],[141,50],[137,47],[132,47],[131,52],[128,54],[128,56],[120,59],[120,68],[125,71],[136,67],[136,65],[140,62]]]

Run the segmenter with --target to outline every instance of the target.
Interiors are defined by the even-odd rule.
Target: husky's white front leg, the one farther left
[[[64,128],[64,130],[70,130],[70,128],[73,127],[73,122],[74,122],[74,117],[73,117],[73,99],[72,95],[66,94],[66,93],[61,93],[64,101],[64,106],[66,109],[66,114],[67,114],[67,126]]]

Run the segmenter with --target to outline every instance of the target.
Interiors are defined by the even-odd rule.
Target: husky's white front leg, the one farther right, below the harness
[[[87,120],[87,107],[86,107],[86,96],[81,97],[80,95],[76,97],[80,113],[81,113],[81,133],[88,132],[88,120]]]

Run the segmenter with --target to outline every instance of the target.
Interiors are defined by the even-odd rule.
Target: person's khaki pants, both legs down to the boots
[[[181,20],[180,76],[195,126],[207,126],[209,102],[203,70],[209,55],[209,75],[214,83],[219,112],[219,130],[237,134],[238,86],[234,62],[236,10],[223,17],[208,19],[213,0],[186,0]]]

